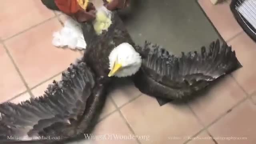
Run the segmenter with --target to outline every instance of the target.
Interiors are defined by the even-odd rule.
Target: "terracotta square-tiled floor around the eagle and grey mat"
[[[118,87],[109,94],[94,135],[135,134],[138,138],[97,140],[97,144],[256,143],[256,43],[234,20],[228,2],[214,6],[210,0],[198,1],[244,67],[183,106],[160,107],[130,82]],[[40,0],[16,6],[4,0],[1,8],[0,103],[18,103],[42,95],[81,53],[52,46],[52,33],[61,28],[65,16],[46,9]]]

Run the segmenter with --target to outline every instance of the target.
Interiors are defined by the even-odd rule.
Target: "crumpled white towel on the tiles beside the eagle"
[[[69,17],[64,27],[58,31],[54,32],[52,44],[56,47],[68,47],[71,49],[85,49],[86,42],[84,40],[84,35],[82,32],[81,25]]]

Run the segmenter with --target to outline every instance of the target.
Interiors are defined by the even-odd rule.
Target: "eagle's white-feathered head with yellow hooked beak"
[[[114,48],[109,55],[110,72],[108,76],[132,76],[138,72],[141,63],[141,56],[132,45],[122,43]]]

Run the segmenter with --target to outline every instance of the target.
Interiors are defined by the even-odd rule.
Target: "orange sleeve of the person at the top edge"
[[[81,10],[77,0],[54,0],[56,6],[65,14],[72,15]]]

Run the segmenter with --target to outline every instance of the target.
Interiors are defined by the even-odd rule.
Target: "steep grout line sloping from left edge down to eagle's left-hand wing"
[[[12,58],[12,55],[10,54],[8,48],[6,47],[6,45],[4,44],[4,42],[2,42],[2,44],[3,44],[3,46],[4,46],[4,49],[6,50],[6,54],[8,55],[8,57],[10,58],[10,60],[12,61],[12,64],[14,65],[14,68],[16,69],[16,72],[18,72],[18,75],[20,76],[20,78],[21,78],[21,80],[22,80],[24,86],[26,87],[27,92],[30,94],[30,97],[34,98],[34,96],[33,96],[32,92],[31,92],[30,88],[28,87],[28,84],[27,84],[27,82],[26,82],[24,76],[22,75],[22,73],[20,72],[20,70],[19,70],[17,64],[15,63],[14,59]]]

